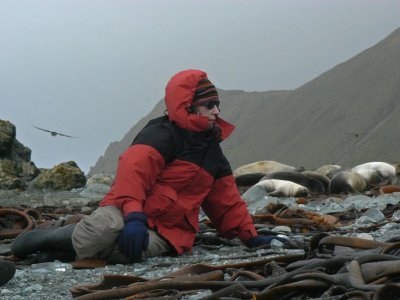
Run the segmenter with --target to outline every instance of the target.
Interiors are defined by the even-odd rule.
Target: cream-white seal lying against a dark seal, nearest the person
[[[266,179],[256,184],[273,197],[308,197],[308,189],[289,180]]]

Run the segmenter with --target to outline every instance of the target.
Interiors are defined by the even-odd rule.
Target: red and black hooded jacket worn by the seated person
[[[208,118],[189,114],[194,92],[207,74],[182,71],[166,87],[168,117],[151,120],[120,156],[116,177],[100,206],[115,205],[124,215],[140,211],[181,254],[191,250],[200,207],[227,238],[256,236],[229,162],[208,132]],[[218,118],[225,139],[234,126]]]

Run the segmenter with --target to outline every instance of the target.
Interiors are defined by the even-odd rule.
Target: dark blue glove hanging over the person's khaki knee
[[[147,216],[142,212],[131,212],[125,217],[125,226],[118,238],[118,248],[127,258],[140,261],[142,251],[149,246]]]

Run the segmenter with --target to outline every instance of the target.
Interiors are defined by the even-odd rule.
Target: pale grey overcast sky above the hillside
[[[1,0],[0,119],[37,167],[73,160],[87,173],[174,73],[295,89],[385,38],[399,16],[399,0]]]

